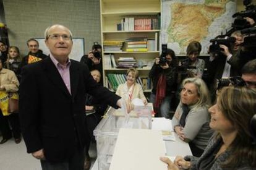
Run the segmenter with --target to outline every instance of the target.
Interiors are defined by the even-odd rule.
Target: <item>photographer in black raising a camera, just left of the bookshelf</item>
[[[102,58],[101,58],[102,47],[98,44],[98,42],[94,42],[92,46],[92,51],[88,53],[88,55],[83,55],[80,62],[83,64],[87,64],[90,71],[99,70],[101,75],[102,72]],[[100,79],[100,83],[102,84],[102,77]]]

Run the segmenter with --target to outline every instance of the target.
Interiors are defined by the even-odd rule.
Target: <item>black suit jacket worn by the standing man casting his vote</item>
[[[50,57],[22,69],[19,90],[20,124],[33,153],[43,148],[48,161],[65,161],[88,138],[85,122],[85,93],[116,106],[119,96],[98,85],[84,64],[71,60],[71,93]]]

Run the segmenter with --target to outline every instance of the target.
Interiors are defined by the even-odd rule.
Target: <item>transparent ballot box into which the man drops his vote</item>
[[[98,169],[109,169],[120,128],[151,129],[151,106],[135,106],[129,113],[109,108],[93,134],[96,139]]]

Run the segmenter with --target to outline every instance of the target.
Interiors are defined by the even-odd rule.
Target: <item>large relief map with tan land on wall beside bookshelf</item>
[[[234,22],[236,0],[162,0],[161,44],[186,54],[191,41],[199,41],[207,54],[210,40],[226,33]]]

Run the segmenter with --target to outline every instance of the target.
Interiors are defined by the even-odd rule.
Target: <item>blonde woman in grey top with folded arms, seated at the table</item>
[[[182,82],[181,101],[172,119],[173,129],[181,140],[189,143],[194,156],[200,156],[213,134],[209,127],[210,96],[202,79],[194,77]]]

